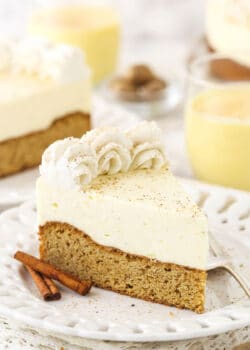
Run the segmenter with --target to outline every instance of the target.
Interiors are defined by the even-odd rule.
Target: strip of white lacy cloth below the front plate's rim
[[[116,343],[49,335],[0,319],[0,350],[234,350],[250,349],[250,327],[189,341]]]

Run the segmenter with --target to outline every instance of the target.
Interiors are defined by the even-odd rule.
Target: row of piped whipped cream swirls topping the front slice
[[[95,129],[81,139],[56,141],[44,152],[41,175],[63,188],[79,188],[98,175],[167,165],[161,132],[154,122],[124,133],[115,127]]]

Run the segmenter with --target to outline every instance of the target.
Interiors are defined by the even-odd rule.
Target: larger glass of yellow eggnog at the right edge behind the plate
[[[241,67],[218,54],[190,64],[185,128],[198,179],[250,191],[250,61]]]

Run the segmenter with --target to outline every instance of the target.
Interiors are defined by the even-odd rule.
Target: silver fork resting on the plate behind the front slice
[[[239,283],[246,295],[250,298],[250,287],[245,279],[236,272],[231,266],[231,259],[225,255],[224,249],[217,242],[214,235],[209,233],[210,257],[207,265],[207,271],[224,269],[229,272]]]

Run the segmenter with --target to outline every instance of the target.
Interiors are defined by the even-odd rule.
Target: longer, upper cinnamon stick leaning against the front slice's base
[[[32,255],[18,251],[14,255],[14,258],[21,261],[24,265],[31,267],[33,270],[40,272],[44,276],[62,283],[64,286],[72,289],[80,295],[87,294],[91,289],[91,281],[80,281],[77,278],[70,276],[69,274],[56,268],[55,266],[37,259]]]

